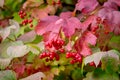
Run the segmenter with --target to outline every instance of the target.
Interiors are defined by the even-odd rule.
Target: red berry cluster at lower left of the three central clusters
[[[57,61],[59,60],[59,55],[55,52],[43,52],[42,54],[40,54],[40,59],[45,58],[46,62],[48,61],[52,61],[54,59],[56,59]]]

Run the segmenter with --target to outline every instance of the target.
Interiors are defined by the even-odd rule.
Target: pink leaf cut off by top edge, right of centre
[[[82,11],[82,13],[89,13],[98,6],[97,0],[79,0],[76,4],[76,10]]]

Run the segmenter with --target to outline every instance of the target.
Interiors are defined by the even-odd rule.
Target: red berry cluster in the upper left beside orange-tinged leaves
[[[20,18],[21,19],[24,19],[23,21],[22,21],[22,25],[27,25],[27,24],[29,24],[30,25],[30,27],[33,27],[33,24],[32,24],[32,19],[27,19],[27,14],[26,14],[26,12],[24,12],[23,10],[21,10],[21,11],[19,11],[19,16],[20,16]],[[25,19],[26,18],[26,19]]]

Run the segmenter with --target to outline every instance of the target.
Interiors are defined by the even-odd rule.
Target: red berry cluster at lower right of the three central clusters
[[[72,60],[70,61],[71,64],[82,62],[82,56],[76,52],[67,52],[66,58],[72,58]]]

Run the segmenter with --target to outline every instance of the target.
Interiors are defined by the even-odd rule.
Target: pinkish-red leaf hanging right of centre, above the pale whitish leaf
[[[82,56],[86,57],[91,54],[91,49],[88,47],[88,44],[96,44],[96,36],[91,32],[85,32],[83,36],[75,43],[75,49]]]

